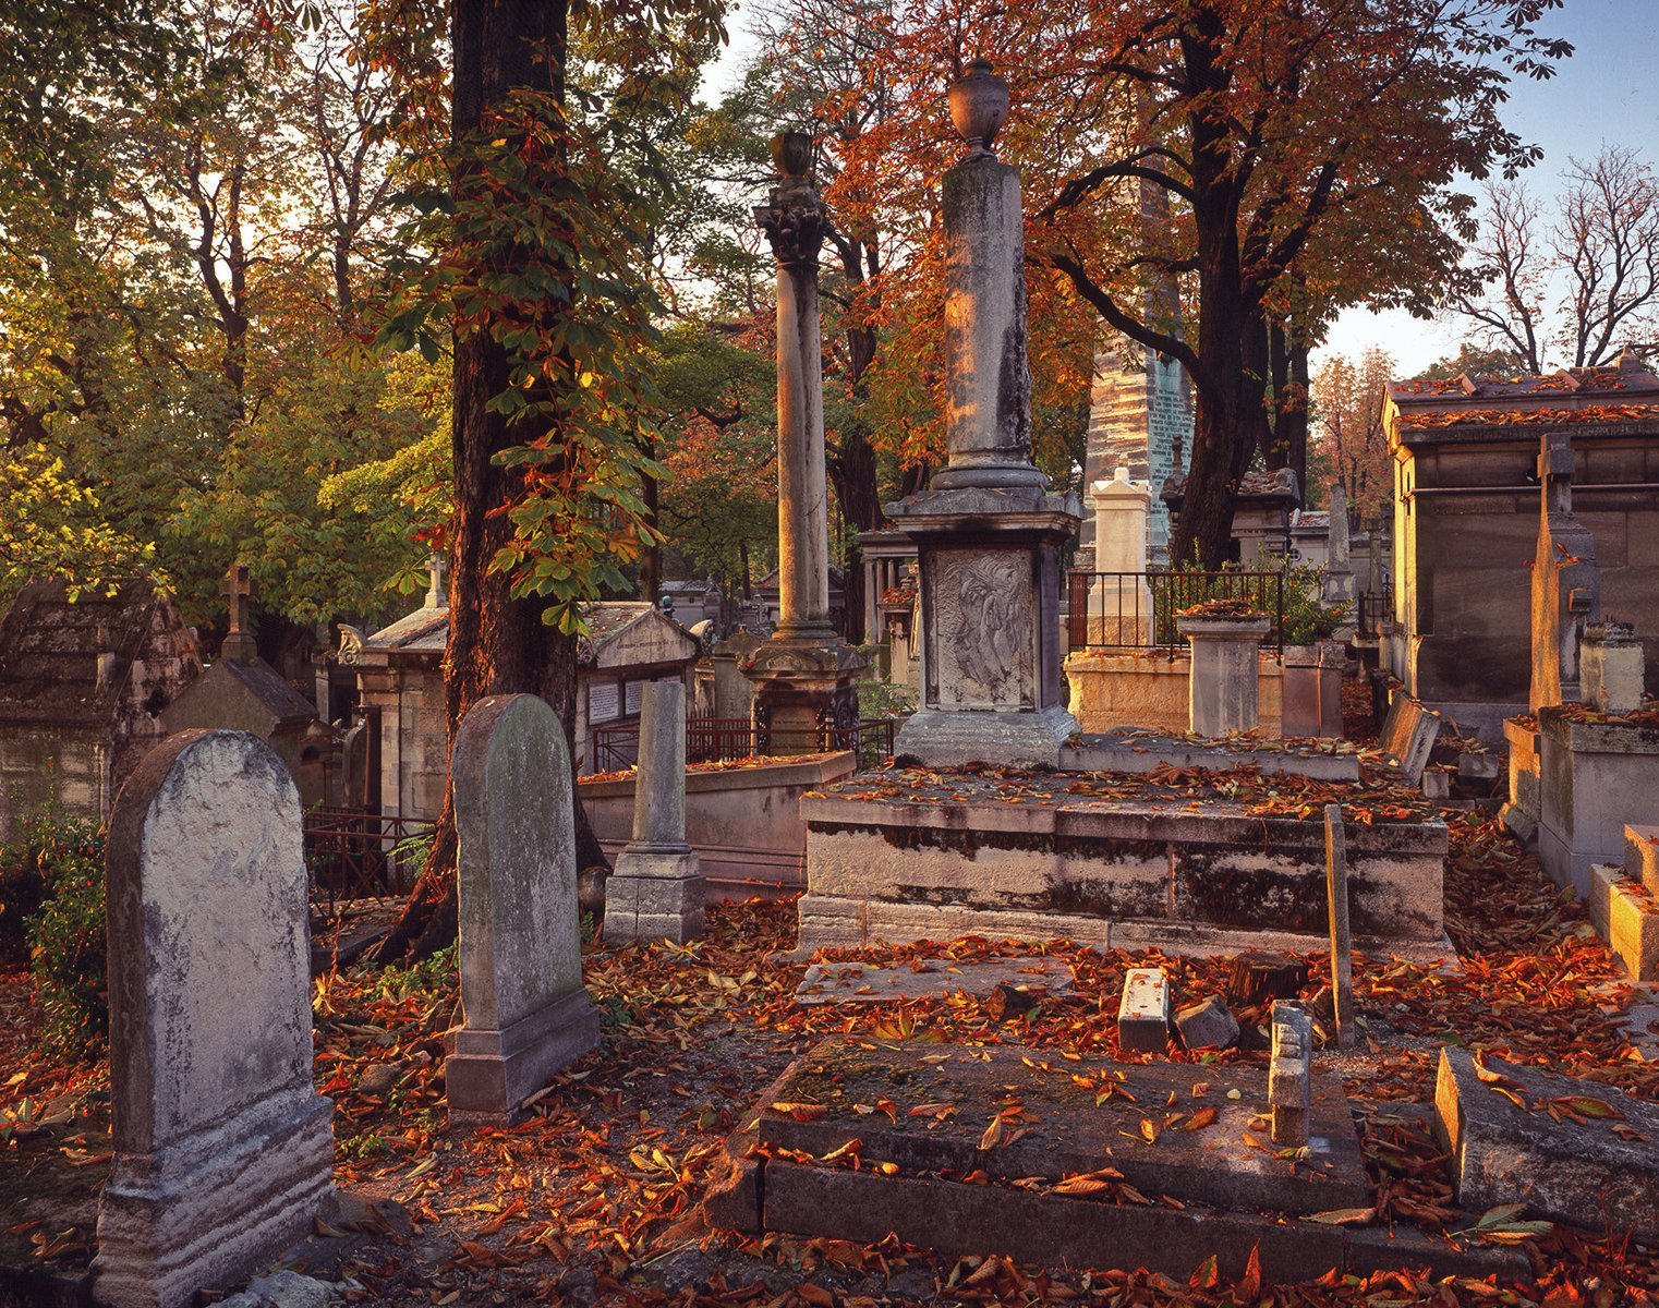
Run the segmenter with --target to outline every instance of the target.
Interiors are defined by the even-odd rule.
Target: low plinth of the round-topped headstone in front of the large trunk
[[[523,1120],[524,1099],[552,1074],[599,1046],[599,1011],[576,989],[504,1031],[458,1026],[443,1064],[450,1120],[460,1125]]]

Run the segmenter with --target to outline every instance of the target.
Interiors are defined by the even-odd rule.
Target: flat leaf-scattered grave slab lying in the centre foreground
[[[1097,1104],[1108,1084],[1110,1097]],[[1194,1096],[1194,1086],[1203,1086],[1203,1094]],[[1229,1099],[1234,1089],[1239,1097]],[[1070,1061],[1019,1046],[830,1039],[801,1059],[775,1102],[821,1105],[825,1112],[798,1120],[790,1110],[761,1105],[761,1144],[821,1159],[856,1139],[861,1159],[893,1162],[906,1174],[980,1169],[992,1179],[1058,1182],[1115,1167],[1148,1197],[1287,1213],[1360,1207],[1374,1198],[1340,1081],[1331,1076],[1314,1079],[1306,1160],[1276,1157],[1244,1140],[1251,1135],[1267,1144],[1267,1127],[1254,1125],[1267,1114],[1267,1084],[1251,1067]],[[876,1107],[883,1102],[893,1105],[891,1120]],[[980,1149],[992,1117],[1014,1102],[1022,1114],[1009,1117],[1005,1127],[1025,1134]],[[1175,1114],[1191,1120],[1204,1109],[1216,1114],[1211,1125],[1183,1130],[1180,1120],[1170,1122]],[[1151,1124],[1155,1144],[1146,1142],[1143,1120]]]

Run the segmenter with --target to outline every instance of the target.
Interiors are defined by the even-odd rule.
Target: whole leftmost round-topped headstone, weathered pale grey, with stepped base
[[[121,790],[106,865],[114,1165],[95,1290],[174,1308],[335,1205],[299,790],[247,732],[179,732]]]

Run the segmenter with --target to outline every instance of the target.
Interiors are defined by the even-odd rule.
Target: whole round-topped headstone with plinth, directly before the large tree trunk
[[[564,729],[538,695],[478,700],[455,737],[461,1024],[451,1122],[513,1122],[599,1044],[582,989],[576,813]]]

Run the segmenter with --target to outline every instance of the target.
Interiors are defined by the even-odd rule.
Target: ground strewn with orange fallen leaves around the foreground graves
[[[1442,1042],[1490,1049],[1659,1101],[1659,1062],[1629,1044],[1623,1014],[1642,996],[1589,931],[1583,908],[1545,880],[1490,822],[1448,813],[1453,858],[1447,916],[1463,958],[1457,973],[1365,959],[1355,969],[1369,1041],[1331,1059],[1362,1114],[1379,1180],[1374,1220],[1442,1230],[1450,1185],[1420,1117],[1390,1101],[1427,1102]],[[1077,974],[1075,996],[1022,1019],[997,1021],[962,994],[909,1004],[800,1008],[801,964],[770,961],[793,944],[793,903],[710,911],[688,948],[594,949],[589,991],[604,1044],[559,1077],[536,1115],[511,1130],[448,1130],[443,1047],[455,1014],[453,969],[345,971],[315,986],[317,1081],[335,1099],[337,1180],[373,1200],[397,1200],[408,1235],[370,1232],[343,1268],[347,1298],[411,1303],[637,1303],[713,1308],[874,1308],[909,1301],[1077,1305],[1407,1305],[1659,1301],[1659,1260],[1634,1247],[1558,1228],[1531,1242],[1536,1278],[1520,1290],[1410,1275],[1194,1285],[1135,1270],[1090,1275],[1015,1267],[1002,1258],[936,1258],[894,1242],[745,1240],[698,1225],[693,1208],[720,1167],[725,1137],[790,1061],[826,1034],[922,1037],[956,1044],[1019,1042],[1120,1056],[1117,999],[1130,966],[1160,963],[1178,999],[1221,991],[1224,959],[1102,954],[1067,943],[1034,949],[959,941],[956,958],[1048,953]],[[843,954],[869,961],[941,956],[937,944]],[[1326,959],[1311,956],[1309,993]],[[36,1066],[27,1046],[27,981],[0,979],[10,1077],[0,1107],[0,1174],[43,1175],[41,1159],[95,1174],[108,1150],[103,1072]],[[1261,1016],[1239,1014],[1246,1022]],[[1121,1054],[1145,1059],[1146,1054]],[[1161,1057],[1261,1061],[1256,1052]],[[25,1107],[27,1104],[27,1107]],[[1573,1112],[1573,1107],[1566,1107]],[[33,1170],[28,1170],[33,1169]],[[1121,1198],[1121,1197],[1120,1197]],[[1138,1198],[1138,1197],[1135,1197]],[[90,1227],[18,1223],[18,1190],[0,1185],[8,1248],[73,1268],[90,1257]],[[1133,1200],[1130,1200],[1133,1202]],[[375,1223],[370,1223],[375,1225]]]

